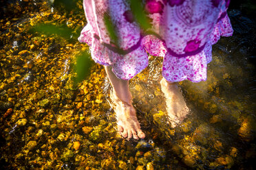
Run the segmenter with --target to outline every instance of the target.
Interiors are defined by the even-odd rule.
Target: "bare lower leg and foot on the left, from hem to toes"
[[[129,90],[129,80],[121,80],[111,71],[111,66],[105,66],[107,76],[114,88],[111,99],[116,105],[116,119],[118,132],[125,138],[145,138],[140,130],[140,124],[136,117],[136,110],[131,104],[132,96]]]

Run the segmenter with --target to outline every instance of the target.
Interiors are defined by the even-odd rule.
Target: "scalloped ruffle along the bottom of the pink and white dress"
[[[220,36],[231,36],[233,29],[228,16],[224,16],[215,24],[213,32],[200,53],[193,56],[172,56],[165,43],[156,36],[145,36],[140,46],[134,51],[120,55],[100,43],[100,40],[92,34],[92,27],[87,24],[78,38],[80,42],[86,42],[91,46],[92,59],[103,65],[112,66],[112,71],[122,80],[130,80],[140,73],[148,65],[147,52],[151,56],[164,57],[162,64],[162,75],[170,82],[190,80],[201,82],[206,80],[207,64],[211,62],[211,45],[215,44]]]

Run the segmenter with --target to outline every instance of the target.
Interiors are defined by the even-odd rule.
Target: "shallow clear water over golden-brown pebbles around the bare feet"
[[[231,0],[234,34],[213,45],[206,82],[180,82],[190,112],[174,128],[149,57],[130,82],[139,141],[116,133],[103,66],[74,85],[82,1],[0,2],[0,169],[256,168],[254,1]]]

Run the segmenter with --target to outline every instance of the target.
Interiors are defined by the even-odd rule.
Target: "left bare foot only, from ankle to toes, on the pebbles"
[[[116,121],[120,135],[127,139],[145,138],[145,134],[140,130],[136,110],[132,106],[131,101],[129,103],[122,101],[114,92],[111,93],[110,98],[114,103],[112,107],[116,112]]]

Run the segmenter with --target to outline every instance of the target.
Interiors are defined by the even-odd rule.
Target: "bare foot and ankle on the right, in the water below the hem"
[[[169,83],[164,78],[161,82],[162,93],[167,99],[167,112],[171,121],[172,127],[178,125],[189,113],[189,108],[186,106],[186,102],[182,96],[177,83]]]

